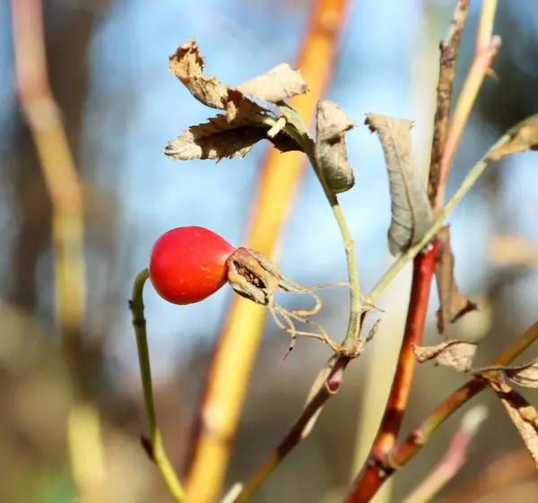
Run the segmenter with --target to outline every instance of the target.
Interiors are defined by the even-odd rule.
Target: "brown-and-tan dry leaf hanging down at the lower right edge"
[[[533,405],[510,386],[495,383],[490,383],[490,386],[499,396],[500,402],[508,412],[509,418],[514,423],[525,447],[533,456],[536,468],[538,468],[538,412]]]

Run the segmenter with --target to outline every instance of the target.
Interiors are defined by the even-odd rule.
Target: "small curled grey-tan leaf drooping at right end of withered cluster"
[[[334,101],[317,104],[316,159],[327,185],[336,194],[355,185],[344,138],[345,132],[353,126],[351,119]]]

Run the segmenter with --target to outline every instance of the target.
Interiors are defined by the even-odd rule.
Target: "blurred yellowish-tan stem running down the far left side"
[[[16,90],[52,204],[56,320],[74,386],[67,421],[71,471],[81,501],[103,501],[100,415],[82,392],[83,378],[75,361],[86,307],[82,186],[48,82],[41,2],[13,0],[12,18]]]

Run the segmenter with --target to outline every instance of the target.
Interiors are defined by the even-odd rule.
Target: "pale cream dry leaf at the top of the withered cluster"
[[[293,70],[287,63],[281,63],[265,74],[239,84],[236,89],[258,100],[278,103],[307,93],[308,83],[299,71]]]

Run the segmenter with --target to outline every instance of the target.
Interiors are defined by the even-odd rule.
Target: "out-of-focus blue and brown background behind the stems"
[[[20,106],[16,82],[21,80],[15,78],[13,39],[24,43],[24,33],[13,31],[12,7],[19,0],[0,0],[3,503],[71,502],[74,481],[90,485],[102,481],[107,495],[102,501],[172,500],[139,445],[146,421],[127,299],[135,274],[146,266],[153,241],[166,230],[200,225],[236,246],[241,244],[260,163],[269,147],[258,144],[245,160],[224,160],[218,165],[207,160],[167,160],[162,149],[170,139],[213,116],[213,110],[194,100],[169,74],[168,56],[195,38],[206,57],[208,74],[230,85],[282,61],[292,64],[312,1],[44,1],[50,89],[73,154],[74,171],[65,177],[75,173],[82,180],[84,206],[83,247],[78,253],[85,264],[79,261],[74,271],[55,273],[53,245],[62,230],[57,222],[53,224],[53,215],[60,212],[56,213],[58,221],[64,219],[75,231],[82,229],[82,223],[70,217],[77,206],[69,197],[64,198],[64,213],[61,208],[53,212],[46,181],[53,179],[61,185],[63,172],[48,173],[39,160]],[[26,8],[34,2],[21,4]],[[473,58],[480,6],[472,2],[464,30],[456,96]],[[377,138],[362,126],[364,114],[416,121],[416,159],[421,166],[427,165],[438,42],[446,35],[453,9],[452,0],[352,0],[349,4],[327,97],[359,125],[347,135],[357,183],[341,202],[356,240],[365,291],[390,264],[386,247],[390,211],[383,154]],[[28,11],[19,19],[30,22],[30,17]],[[538,110],[538,9],[534,1],[500,2],[495,33],[503,40],[493,65],[499,82],[492,78],[484,82],[456,155],[448,194],[500,134]],[[27,56],[33,61],[32,53]],[[64,148],[54,136],[39,141],[53,151]],[[535,321],[537,164],[533,153],[495,164],[450,218],[456,279],[480,308],[454,325],[451,334],[484,338],[478,354],[483,364]],[[59,193],[69,190],[68,182],[56,187]],[[61,194],[57,197],[62,200]],[[283,273],[295,281],[308,285],[345,281],[343,246],[334,217],[308,170],[282,228],[276,257]],[[391,336],[401,332],[408,276],[409,271],[403,273],[380,301],[389,321],[377,335],[375,348],[353,362],[342,391],[325,407],[312,435],[271,475],[253,501],[332,503],[342,499],[352,466],[358,463],[361,449],[369,447],[364,436],[375,433],[376,407],[385,400],[390,365],[377,364],[373,381],[367,373],[374,353],[377,362],[394,359]],[[71,302],[71,314],[56,313],[58,282],[66,285],[66,309]],[[179,308],[160,299],[151,287],[145,291],[157,408],[165,445],[179,473],[186,466],[188,436],[204,373],[230,298],[230,289],[225,287],[200,304]],[[340,340],[347,324],[347,294],[326,291],[323,299],[320,321]],[[426,343],[439,341],[437,308],[433,289]],[[304,340],[282,363],[288,344],[288,336],[269,322],[248,387],[227,486],[252,473],[282,438],[328,354],[322,344]],[[365,396],[366,381],[377,400]],[[404,432],[417,426],[463,381],[464,377],[448,369],[419,369]],[[88,405],[81,412],[78,424],[89,428],[82,433],[67,421],[74,394],[96,408]],[[538,403],[538,395],[524,395]],[[515,495],[525,497],[517,501],[538,500],[531,458],[521,450],[521,440],[505,412],[490,395],[483,394],[477,401],[490,406],[490,418],[474,438],[463,471],[438,500],[493,502]],[[100,412],[100,430],[92,420],[95,410]],[[390,500],[403,499],[438,460],[458,425],[460,414],[456,416],[404,472],[395,475]],[[81,434],[82,439],[79,435],[67,442],[66,431],[75,437]],[[99,448],[92,439],[100,439]],[[353,447],[360,442],[362,447]],[[82,458],[69,454],[73,446],[78,446]],[[483,472],[494,460],[498,464]],[[502,490],[495,490],[499,474],[507,475],[507,481]]]

